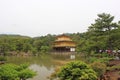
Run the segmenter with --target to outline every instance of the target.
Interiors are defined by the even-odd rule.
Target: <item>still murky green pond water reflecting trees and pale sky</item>
[[[53,55],[42,55],[42,56],[25,56],[17,57],[10,56],[8,57],[8,63],[22,64],[29,63],[30,69],[33,69],[37,72],[37,75],[32,79],[28,80],[50,80],[48,77],[51,73],[54,72],[56,66],[59,66],[59,63],[56,61],[65,61],[69,60],[70,56],[53,56]]]

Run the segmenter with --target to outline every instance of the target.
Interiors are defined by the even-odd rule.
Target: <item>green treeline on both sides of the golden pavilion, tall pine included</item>
[[[77,52],[98,52],[99,50],[120,49],[120,21],[113,22],[114,16],[98,14],[95,23],[92,23],[87,32],[73,33],[70,36],[76,43]],[[0,53],[25,52],[32,54],[52,51],[52,45],[57,35],[48,34],[40,37],[20,35],[0,35]]]

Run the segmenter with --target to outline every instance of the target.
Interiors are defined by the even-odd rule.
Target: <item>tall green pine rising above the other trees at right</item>
[[[110,14],[98,14],[98,18],[95,20],[95,23],[91,24],[89,27],[88,33],[95,43],[94,48],[96,48],[96,50],[101,47],[104,48],[105,46],[100,46],[104,44],[108,44],[106,48],[112,49],[112,38],[110,35],[114,29],[118,29],[118,24],[113,22],[113,20],[114,16],[111,16]]]

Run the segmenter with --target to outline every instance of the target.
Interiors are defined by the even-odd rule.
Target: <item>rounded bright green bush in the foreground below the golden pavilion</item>
[[[75,61],[63,66],[58,72],[60,80],[96,80],[96,73],[86,63]]]

